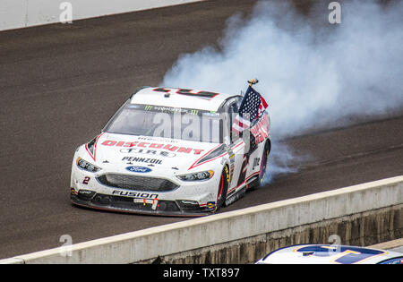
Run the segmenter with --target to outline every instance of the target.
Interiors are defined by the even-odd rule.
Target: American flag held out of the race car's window
[[[262,95],[249,86],[239,107],[239,113],[232,124],[232,131],[239,135],[244,129],[250,127],[253,120],[262,115],[266,107],[268,104]]]

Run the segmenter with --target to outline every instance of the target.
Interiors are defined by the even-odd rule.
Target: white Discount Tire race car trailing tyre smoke
[[[74,154],[73,204],[142,214],[202,216],[262,184],[270,153],[266,110],[232,124],[242,96],[145,87]]]

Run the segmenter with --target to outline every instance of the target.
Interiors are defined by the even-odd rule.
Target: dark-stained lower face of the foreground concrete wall
[[[254,263],[269,252],[293,244],[340,244],[368,246],[403,236],[403,205],[375,209],[355,215],[324,220],[304,226],[252,236],[188,252],[159,257],[159,263],[227,264]],[[152,263],[156,258],[139,263]]]

